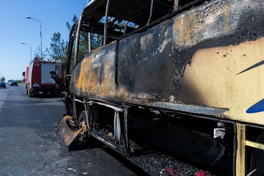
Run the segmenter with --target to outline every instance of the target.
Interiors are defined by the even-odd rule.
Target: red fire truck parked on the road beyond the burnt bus
[[[27,72],[23,73],[26,77],[26,92],[29,97],[46,94],[59,95],[60,87],[54,79],[50,77],[50,71],[55,71],[59,78],[64,82],[63,66],[61,62],[43,61],[36,57],[27,66]]]

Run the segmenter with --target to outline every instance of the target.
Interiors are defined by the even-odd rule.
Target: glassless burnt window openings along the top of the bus
[[[197,0],[196,0],[197,1]],[[109,8],[107,11],[107,3]],[[83,10],[76,64],[90,51],[142,28],[183,6],[187,0],[95,0]],[[175,7],[177,6],[177,7]],[[106,13],[107,12],[107,13]],[[107,15],[107,22],[106,22]],[[106,26],[106,27],[105,27]],[[91,43],[89,44],[88,36]]]

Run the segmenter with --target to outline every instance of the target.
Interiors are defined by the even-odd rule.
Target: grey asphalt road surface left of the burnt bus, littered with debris
[[[60,98],[28,98],[23,85],[0,88],[0,175],[136,175],[98,144],[68,151],[55,126]]]

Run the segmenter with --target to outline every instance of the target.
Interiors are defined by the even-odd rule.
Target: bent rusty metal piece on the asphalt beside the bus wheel
[[[72,120],[72,117],[70,116],[64,116],[59,124],[56,127],[56,130],[59,132],[60,136],[63,138],[65,145],[68,147],[70,143],[78,136],[78,134],[82,131],[83,127],[82,126],[78,130],[72,130],[69,128],[67,125],[67,119]]]

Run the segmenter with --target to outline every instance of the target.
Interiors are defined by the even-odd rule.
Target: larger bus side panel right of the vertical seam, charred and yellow
[[[262,1],[214,1],[120,40],[119,94],[264,125],[263,16]]]

